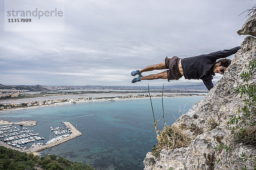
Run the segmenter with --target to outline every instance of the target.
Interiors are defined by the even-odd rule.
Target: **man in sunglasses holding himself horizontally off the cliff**
[[[180,79],[182,76],[185,79],[201,79],[204,82],[204,85],[208,90],[213,88],[212,76],[215,76],[215,73],[224,74],[227,67],[230,65],[230,59],[221,59],[229,57],[232,54],[235,54],[240,47],[231,48],[229,50],[216,51],[210,54],[202,54],[195,57],[186,57],[180,59],[176,56],[172,58],[165,58],[164,62],[161,62],[157,65],[150,65],[141,70],[132,71],[131,75],[136,76],[131,82],[140,82],[141,80],[151,80],[151,79]],[[216,60],[219,59],[217,62]],[[169,69],[163,71],[162,73],[150,74],[143,77],[141,73],[145,71],[152,70],[161,70]]]

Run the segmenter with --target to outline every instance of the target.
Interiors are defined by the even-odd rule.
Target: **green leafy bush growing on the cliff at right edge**
[[[244,105],[238,108],[238,115],[233,116],[227,125],[232,125],[232,134],[233,142],[243,143],[249,145],[250,147],[256,147],[256,85],[255,85],[255,76],[256,76],[256,59],[250,62],[248,71],[243,71],[240,74],[241,79],[244,81],[244,84],[240,84],[236,88],[235,92],[241,94],[241,97],[244,96],[243,102]],[[242,153],[241,161],[250,162],[253,166],[253,170],[256,170],[256,157],[253,154],[249,153],[250,156],[247,156],[245,153]],[[242,170],[247,170],[246,165]]]

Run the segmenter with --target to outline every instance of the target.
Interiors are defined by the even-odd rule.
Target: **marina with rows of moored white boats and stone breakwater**
[[[61,122],[64,124],[64,127],[57,127],[52,128],[50,127],[50,130],[54,133],[54,138],[49,139],[45,144],[43,142],[39,142],[39,140],[44,140],[44,137],[38,136],[39,133],[34,133],[33,130],[28,130],[26,127],[23,127],[21,129],[17,128],[16,126],[12,125],[34,125],[33,122],[24,121],[17,122],[16,124],[13,124],[11,122],[1,120],[0,127],[0,139],[5,137],[5,139],[0,140],[0,146],[4,146],[7,148],[11,148],[14,150],[19,150],[20,152],[26,152],[26,153],[37,153],[41,150],[54,147],[58,144],[61,144],[63,142],[66,142],[70,139],[73,139],[77,136],[81,136],[82,133],[79,132],[70,122]],[[36,121],[35,121],[36,122]],[[3,124],[2,124],[3,123]],[[25,123],[25,124],[23,124]],[[23,144],[29,143],[29,142],[38,142],[33,143],[31,147],[26,147]]]

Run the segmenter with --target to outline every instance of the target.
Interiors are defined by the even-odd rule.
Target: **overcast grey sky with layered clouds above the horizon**
[[[131,86],[201,84],[184,78],[132,84],[130,73],[163,62],[166,56],[184,58],[239,46],[246,36],[236,31],[247,19],[246,13],[239,14],[256,3],[65,0],[65,31],[29,32],[4,31],[0,2],[0,83]],[[214,82],[220,78],[215,76]]]

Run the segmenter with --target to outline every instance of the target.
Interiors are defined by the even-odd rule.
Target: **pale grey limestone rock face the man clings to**
[[[255,20],[247,22],[247,25],[245,24],[242,28],[243,34],[250,33],[256,36],[255,23]],[[174,125],[194,123],[202,127],[204,133],[192,140],[189,147],[163,149],[160,158],[156,158],[151,152],[147,153],[143,161],[144,170],[240,170],[244,167],[245,164],[240,159],[241,153],[256,154],[256,149],[239,145],[231,152],[226,152],[225,149],[215,151],[213,148],[221,143],[229,144],[227,138],[230,137],[228,134],[231,130],[227,128],[226,123],[231,116],[236,115],[238,107],[244,105],[243,98],[240,94],[236,94],[234,89],[240,83],[244,83],[239,74],[247,71],[249,63],[254,59],[256,59],[256,38],[249,36],[241,43],[241,49],[235,54],[223,77],[208,95],[195,103],[188,113],[183,114],[174,123]],[[255,79],[252,83],[256,84]],[[212,129],[210,122],[213,121],[220,123]],[[253,169],[248,161],[246,163],[248,170]]]

